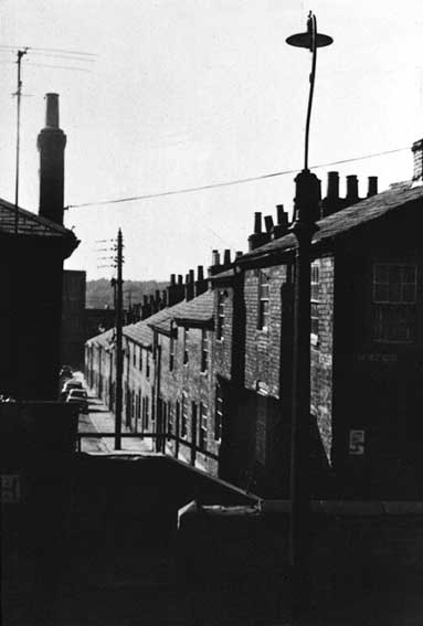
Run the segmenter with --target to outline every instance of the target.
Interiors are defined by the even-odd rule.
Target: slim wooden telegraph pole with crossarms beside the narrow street
[[[123,278],[121,267],[124,264],[124,242],[121,230],[117,233],[116,247],[116,369],[115,369],[115,450],[121,449],[121,409],[123,409],[123,374],[124,374],[124,353],[123,353]]]

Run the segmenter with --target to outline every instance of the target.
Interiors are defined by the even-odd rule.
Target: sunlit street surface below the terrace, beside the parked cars
[[[107,409],[104,402],[98,399],[93,390],[88,388],[82,372],[75,372],[74,378],[81,380],[88,393],[88,414],[80,414],[78,433],[86,434],[82,437],[81,450],[85,453],[115,453],[115,439],[110,437],[89,437],[94,433],[115,433],[115,415]],[[123,415],[123,434],[131,434],[130,428],[125,424],[125,415]],[[140,436],[121,437],[123,453],[139,452],[142,454],[154,453],[154,442],[150,438],[141,438]]]

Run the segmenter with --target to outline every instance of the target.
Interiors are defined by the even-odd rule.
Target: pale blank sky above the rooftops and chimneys
[[[403,148],[423,136],[422,0],[0,0],[0,41],[96,53],[94,63],[22,62],[20,204],[38,211],[44,94],[61,96],[65,204],[302,169],[310,54],[285,39],[308,10],[335,43],[319,51],[310,165]],[[14,198],[17,66],[0,53],[0,195]],[[46,68],[71,65],[91,73]],[[412,176],[411,151],[316,170]],[[127,204],[72,209],[82,240],[66,262],[110,277],[96,243],[125,240],[124,275],[168,279],[211,250],[247,247],[254,211],[292,209],[294,176]]]

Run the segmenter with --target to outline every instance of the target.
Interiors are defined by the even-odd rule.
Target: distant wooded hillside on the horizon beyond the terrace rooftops
[[[140,303],[142,295],[149,296],[156,289],[165,289],[168,283],[157,280],[125,280],[124,282],[124,307]],[[86,283],[86,306],[88,309],[113,308],[113,288],[110,280],[99,278],[98,280],[87,280]]]

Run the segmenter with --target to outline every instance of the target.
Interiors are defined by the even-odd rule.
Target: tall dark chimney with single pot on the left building
[[[66,135],[59,126],[59,94],[46,94],[45,99],[45,127],[36,140],[40,152],[39,213],[56,224],[63,224]]]

